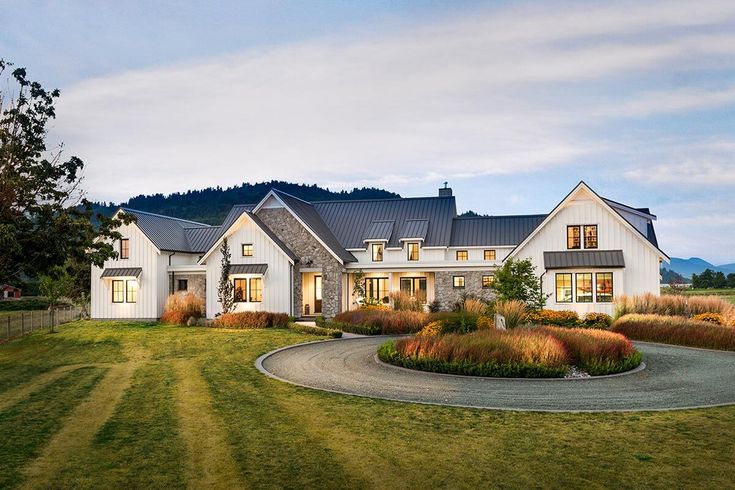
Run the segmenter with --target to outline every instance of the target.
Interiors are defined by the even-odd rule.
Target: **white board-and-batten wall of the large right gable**
[[[620,296],[644,293],[659,294],[659,257],[640,234],[626,227],[619,216],[590,197],[580,196],[565,207],[516,252],[516,258],[530,258],[537,275],[544,272],[544,252],[567,250],[567,225],[597,225],[598,250],[622,250],[624,269],[560,269],[548,270],[543,276],[544,293],[551,294],[546,307],[554,310],[590,311],[612,314],[612,303],[557,303],[557,272],[613,272],[613,294]],[[594,286],[593,286],[594,288]],[[576,293],[576,291],[573,291]],[[575,297],[576,299],[576,297]]]

